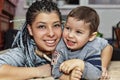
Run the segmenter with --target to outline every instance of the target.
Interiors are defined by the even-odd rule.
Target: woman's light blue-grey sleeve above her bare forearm
[[[12,66],[24,66],[25,57],[21,49],[10,49],[6,53],[0,55],[0,66],[9,64]]]

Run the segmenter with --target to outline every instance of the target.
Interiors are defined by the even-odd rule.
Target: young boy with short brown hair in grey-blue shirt
[[[62,80],[98,80],[101,76],[101,53],[110,46],[96,37],[99,16],[90,7],[77,7],[67,16],[63,40],[53,54],[52,74]],[[82,75],[82,76],[81,76]]]

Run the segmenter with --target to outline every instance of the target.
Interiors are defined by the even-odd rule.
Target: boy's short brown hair
[[[67,16],[74,17],[78,21],[83,20],[85,23],[90,23],[90,34],[96,32],[99,26],[99,15],[97,12],[90,7],[87,6],[79,6],[73,9]]]

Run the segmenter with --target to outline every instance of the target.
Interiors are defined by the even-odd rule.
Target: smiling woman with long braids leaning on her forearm
[[[26,22],[6,54],[0,55],[0,79],[26,80],[51,76],[50,62],[35,50],[51,57],[62,34],[61,13],[57,5],[42,0],[33,3]]]

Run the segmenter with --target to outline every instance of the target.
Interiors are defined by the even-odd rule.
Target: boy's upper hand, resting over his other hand
[[[59,70],[66,74],[69,74],[75,67],[81,68],[81,72],[82,72],[84,69],[84,62],[80,59],[67,60],[60,65]]]

